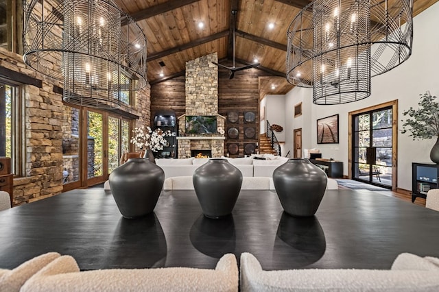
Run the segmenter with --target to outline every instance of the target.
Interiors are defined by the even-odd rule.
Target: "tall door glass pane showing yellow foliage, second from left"
[[[94,178],[102,175],[102,114],[87,116],[87,178]]]

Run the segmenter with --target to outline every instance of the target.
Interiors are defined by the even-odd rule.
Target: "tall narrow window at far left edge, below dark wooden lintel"
[[[19,86],[0,81],[0,156],[11,158],[11,171],[23,175],[21,158],[23,117]]]

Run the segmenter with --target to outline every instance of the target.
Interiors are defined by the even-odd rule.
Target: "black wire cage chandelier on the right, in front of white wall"
[[[313,88],[314,104],[370,96],[370,78],[412,53],[413,0],[316,0],[287,32],[287,80]]]

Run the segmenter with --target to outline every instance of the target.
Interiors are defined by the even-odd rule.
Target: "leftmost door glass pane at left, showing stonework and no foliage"
[[[62,182],[80,180],[80,110],[63,107],[62,123]]]

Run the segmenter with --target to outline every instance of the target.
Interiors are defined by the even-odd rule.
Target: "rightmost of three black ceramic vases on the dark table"
[[[290,159],[273,172],[274,188],[283,210],[292,216],[316,214],[327,182],[327,174],[308,159]]]

